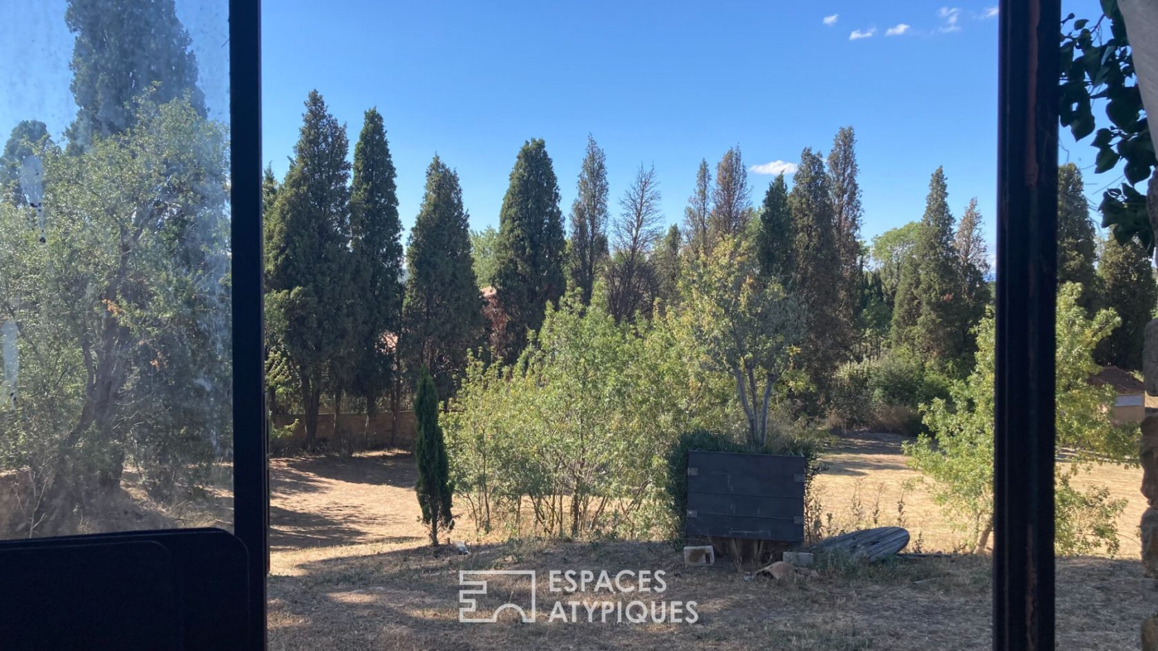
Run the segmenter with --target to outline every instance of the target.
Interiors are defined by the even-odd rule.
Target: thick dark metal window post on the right
[[[1060,0],[1002,0],[994,649],[1054,649]]]

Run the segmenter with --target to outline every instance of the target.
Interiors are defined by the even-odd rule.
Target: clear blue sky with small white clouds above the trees
[[[351,145],[362,112],[382,112],[406,226],[435,152],[459,171],[471,226],[497,226],[515,154],[536,137],[567,212],[588,133],[607,152],[613,206],[637,166],[653,163],[672,222],[702,158],[714,168],[739,144],[748,166],[791,163],[852,125],[866,239],[919,219],[929,175],[944,166],[954,213],[976,196],[991,246],[996,1],[944,1],[266,2],[263,158],[285,173],[302,101],[317,88]],[[59,134],[75,112],[65,2],[17,3],[28,20],[0,25],[0,60],[24,66],[0,74],[0,132],[37,117]],[[219,5],[177,0],[211,109],[223,117]],[[1098,12],[1094,0],[1065,5]],[[1063,161],[1092,164],[1087,144],[1063,134]],[[749,175],[754,202],[771,178]],[[1112,180],[1091,170],[1087,186]]]

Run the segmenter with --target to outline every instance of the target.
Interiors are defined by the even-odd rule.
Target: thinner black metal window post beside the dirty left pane
[[[262,334],[261,0],[229,0],[234,533],[249,555],[250,649],[265,649],[269,491]]]

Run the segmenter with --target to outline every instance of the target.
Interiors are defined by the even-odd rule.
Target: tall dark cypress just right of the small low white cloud
[[[800,359],[813,387],[824,396],[833,372],[849,353],[852,315],[842,309],[843,273],[835,239],[831,192],[824,161],[811,148],[800,154],[789,195],[794,234],[796,273],[792,295],[808,315]]]

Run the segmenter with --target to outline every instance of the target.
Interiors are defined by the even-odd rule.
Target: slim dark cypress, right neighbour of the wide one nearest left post
[[[354,146],[350,191],[356,319],[350,388],[365,401],[367,416],[378,412],[379,396],[394,381],[396,360],[386,337],[396,336],[402,326],[402,221],[395,177],[382,115],[369,109]]]

